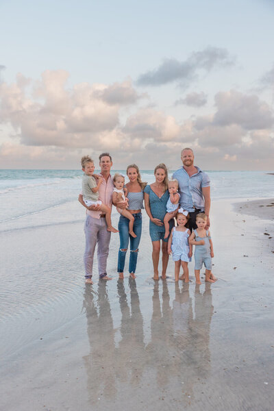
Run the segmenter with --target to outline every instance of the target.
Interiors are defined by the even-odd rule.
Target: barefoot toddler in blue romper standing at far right
[[[201,284],[200,280],[200,270],[202,265],[206,267],[206,282],[215,282],[212,279],[212,257],[214,257],[212,240],[210,237],[210,232],[206,229],[206,214],[200,212],[196,216],[197,229],[195,229],[190,238],[189,242],[195,245],[195,277],[196,284]]]

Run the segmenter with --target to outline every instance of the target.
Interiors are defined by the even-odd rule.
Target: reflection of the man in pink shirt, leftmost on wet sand
[[[84,291],[90,354],[84,357],[89,401],[94,405],[101,395],[114,399],[116,395],[114,360],[114,328],[106,282],[98,284],[98,298],[90,286]]]

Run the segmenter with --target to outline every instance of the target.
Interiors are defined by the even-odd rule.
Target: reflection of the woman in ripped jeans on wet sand
[[[127,303],[127,295],[123,280],[118,280],[117,290],[121,308],[121,341],[116,350],[116,360],[119,364],[119,377],[123,382],[138,386],[143,368],[145,366],[145,343],[143,331],[143,319],[140,312],[140,301],[135,279],[129,278],[130,305]]]

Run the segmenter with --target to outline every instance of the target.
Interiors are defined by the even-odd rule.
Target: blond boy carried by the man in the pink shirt
[[[105,221],[108,226],[108,231],[112,233],[118,233],[118,229],[112,227],[111,222],[111,210],[108,206],[102,203],[99,200],[99,186],[101,185],[102,177],[97,174],[94,174],[95,165],[93,160],[88,155],[84,155],[81,160],[82,170],[84,175],[82,177],[82,192],[83,200],[87,207],[99,205],[99,210],[105,214]],[[96,179],[95,179],[96,178]]]

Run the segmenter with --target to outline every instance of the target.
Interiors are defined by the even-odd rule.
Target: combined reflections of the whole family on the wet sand
[[[98,295],[90,287],[84,292],[90,343],[84,364],[90,403],[98,403],[100,397],[113,401],[127,386],[147,389],[147,375],[150,390],[169,389],[177,399],[193,399],[195,385],[210,373],[210,284],[204,292],[195,288],[192,312],[189,284],[155,282],[147,345],[135,279],[129,279],[129,292],[123,280],[118,280],[113,313],[107,290],[108,285],[100,282]],[[112,314],[117,309],[121,312],[121,340],[115,347]]]

